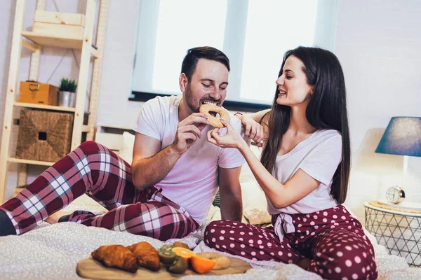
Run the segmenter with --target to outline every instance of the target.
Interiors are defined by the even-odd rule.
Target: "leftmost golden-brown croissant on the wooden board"
[[[91,255],[107,267],[118,267],[132,273],[138,270],[135,254],[123,245],[100,246]]]

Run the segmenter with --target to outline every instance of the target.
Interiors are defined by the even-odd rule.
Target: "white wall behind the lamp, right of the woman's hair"
[[[403,157],[375,154],[392,116],[421,117],[421,1],[340,1],[335,53],[344,68],[353,166],[347,205],[384,198]],[[407,200],[421,202],[421,158],[410,157]]]

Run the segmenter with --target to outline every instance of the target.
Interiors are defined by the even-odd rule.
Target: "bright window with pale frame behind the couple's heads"
[[[211,45],[231,62],[226,100],[271,104],[283,54],[333,50],[338,0],[141,0],[133,92],[180,94],[187,49]]]

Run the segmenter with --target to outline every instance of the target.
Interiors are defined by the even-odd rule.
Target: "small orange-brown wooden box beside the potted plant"
[[[58,87],[48,83],[20,82],[18,102],[58,105]]]

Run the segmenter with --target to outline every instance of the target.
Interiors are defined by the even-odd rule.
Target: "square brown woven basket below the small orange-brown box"
[[[16,158],[56,162],[70,152],[73,113],[22,109]]]

